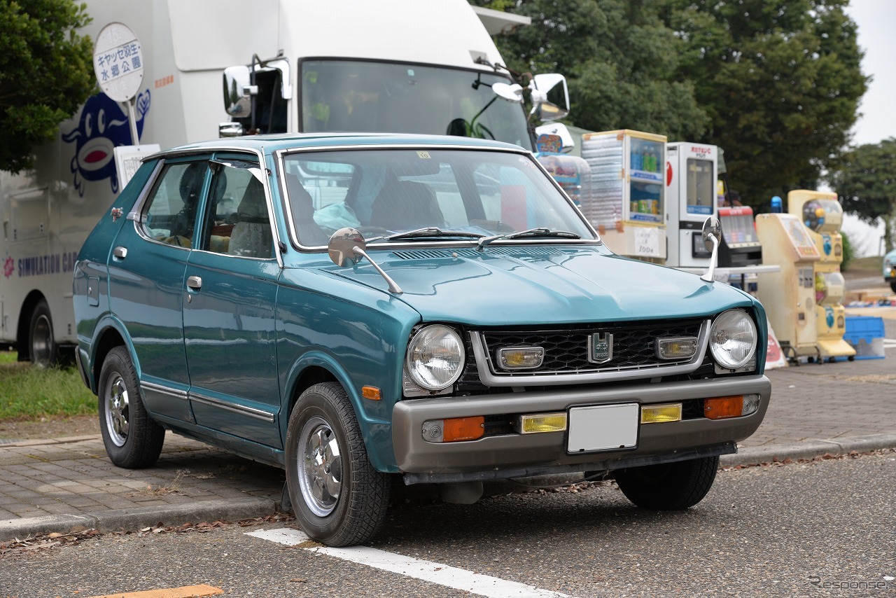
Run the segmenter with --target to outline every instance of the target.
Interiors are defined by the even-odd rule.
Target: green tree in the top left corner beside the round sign
[[[56,137],[95,89],[90,22],[73,0],[0,0],[0,169],[30,168],[32,149]]]

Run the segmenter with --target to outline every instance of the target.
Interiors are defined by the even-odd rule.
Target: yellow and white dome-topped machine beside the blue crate
[[[799,189],[787,195],[788,212],[803,219],[820,259],[814,265],[815,319],[818,351],[823,359],[854,358],[856,350],[843,340],[846,281],[840,273],[843,262],[843,208],[837,194]]]

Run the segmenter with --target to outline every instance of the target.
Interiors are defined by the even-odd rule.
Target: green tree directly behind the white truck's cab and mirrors
[[[695,141],[710,125],[691,82],[676,78],[686,46],[644,0],[470,0],[530,16],[495,39],[511,69],[566,76],[566,119],[594,131],[630,128]]]

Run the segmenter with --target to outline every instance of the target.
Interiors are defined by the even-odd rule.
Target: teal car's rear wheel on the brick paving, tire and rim
[[[125,347],[108,352],[99,372],[99,429],[109,460],[118,467],[140,469],[159,459],[165,429],[152,420]]]

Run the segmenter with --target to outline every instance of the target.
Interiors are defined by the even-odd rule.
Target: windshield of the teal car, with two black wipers
[[[595,238],[529,154],[295,152],[284,157],[283,169],[292,230],[305,247],[326,245],[345,227],[379,242]]]

